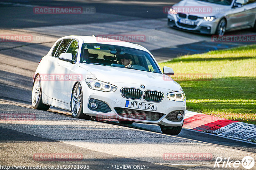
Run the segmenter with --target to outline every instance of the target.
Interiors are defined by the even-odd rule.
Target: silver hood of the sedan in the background
[[[228,5],[220,5],[220,4],[214,4],[214,3],[208,3],[208,2],[204,2],[204,1],[198,1],[198,0],[183,0],[180,1],[179,3],[175,4],[172,6],[172,8],[174,7],[181,7],[180,8],[180,13],[190,13],[191,15],[195,15],[198,17],[205,17],[205,16],[215,16],[217,14],[226,12],[228,10],[230,10],[230,6]],[[190,7],[189,10],[194,10],[195,7],[209,7],[210,8],[210,12],[205,11],[205,12],[186,12],[186,11],[182,11],[184,8],[183,7]],[[204,9],[204,8],[203,8]]]

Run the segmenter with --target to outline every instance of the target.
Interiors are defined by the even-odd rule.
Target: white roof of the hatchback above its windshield
[[[135,48],[135,49],[149,52],[146,48],[144,48],[140,45],[133,44],[133,43],[126,42],[126,41],[120,41],[120,40],[117,41],[116,39],[113,39],[113,41],[111,41],[111,39],[108,39],[108,40],[104,39],[103,41],[100,41],[101,37],[81,36],[81,35],[70,35],[70,36],[62,37],[60,39],[64,39],[64,38],[83,39],[84,43],[96,43],[96,44],[108,44],[108,45],[115,45],[115,46],[125,46],[125,47],[129,47],[129,48]]]

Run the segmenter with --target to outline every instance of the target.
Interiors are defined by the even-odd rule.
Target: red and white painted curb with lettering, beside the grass
[[[256,141],[256,125],[186,110],[184,128],[220,136]]]

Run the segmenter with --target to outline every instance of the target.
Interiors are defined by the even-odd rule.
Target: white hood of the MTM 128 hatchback
[[[92,73],[99,81],[149,85],[172,91],[180,91],[181,89],[176,81],[164,74],[84,63],[79,63],[79,66]]]

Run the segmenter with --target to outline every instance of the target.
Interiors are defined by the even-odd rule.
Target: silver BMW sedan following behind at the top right
[[[182,0],[168,11],[170,27],[203,34],[253,28],[256,0]]]

